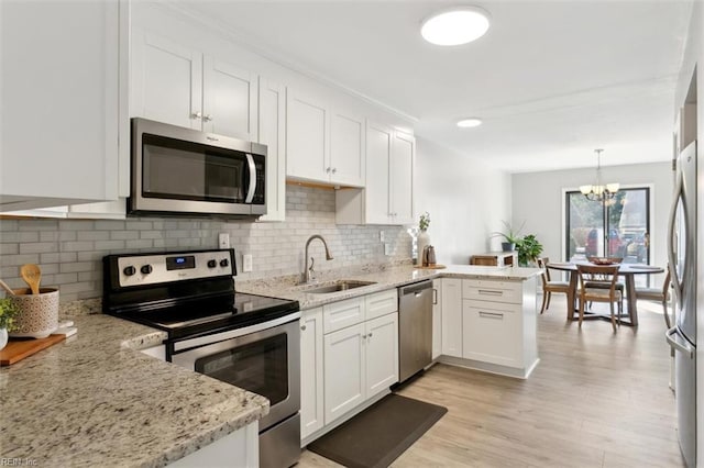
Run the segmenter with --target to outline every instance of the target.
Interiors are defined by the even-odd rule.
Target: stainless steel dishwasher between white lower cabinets
[[[432,361],[432,281],[398,288],[398,380]]]

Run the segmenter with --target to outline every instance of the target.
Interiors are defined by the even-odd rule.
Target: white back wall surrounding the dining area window
[[[579,190],[579,186],[593,183],[595,178],[595,168],[514,174],[514,225],[525,220],[522,234],[536,234],[544,247],[543,255],[551,260],[565,260],[562,245],[563,190]],[[672,201],[670,163],[603,167],[602,180],[618,182],[622,187],[651,187],[651,264],[664,266],[668,261],[668,213]]]

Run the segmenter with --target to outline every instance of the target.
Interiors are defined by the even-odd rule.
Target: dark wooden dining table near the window
[[[568,271],[570,274],[570,282],[568,288],[568,321],[573,321],[579,319],[579,305],[576,302],[576,283],[579,275],[576,272],[576,266],[579,264],[582,265],[594,265],[590,261],[569,261],[569,263],[557,263],[551,261],[546,265],[546,268],[550,268],[553,270]],[[641,265],[641,264],[618,264],[618,276],[623,276],[625,279],[626,287],[626,304],[627,304],[627,314],[619,319],[620,323],[630,326],[638,325],[638,307],[636,300],[636,275],[652,275],[652,274],[661,274],[664,271],[664,268],[653,266],[653,265]],[[610,315],[600,314],[594,312],[584,312],[584,319],[591,317],[605,317],[610,320]]]

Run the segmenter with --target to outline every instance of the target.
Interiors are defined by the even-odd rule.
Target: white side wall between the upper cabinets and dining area
[[[510,219],[510,176],[422,137],[416,146],[416,213],[430,213],[438,263],[464,264],[499,249],[492,231]],[[490,242],[491,241],[491,242]]]

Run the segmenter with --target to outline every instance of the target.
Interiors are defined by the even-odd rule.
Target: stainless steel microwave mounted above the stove
[[[132,119],[130,214],[266,214],[266,146]]]

